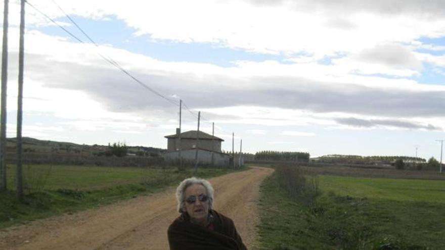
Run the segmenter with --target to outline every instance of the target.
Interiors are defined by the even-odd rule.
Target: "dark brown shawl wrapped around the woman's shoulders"
[[[247,250],[232,219],[211,210],[213,230],[190,222],[187,213],[168,227],[170,250]]]

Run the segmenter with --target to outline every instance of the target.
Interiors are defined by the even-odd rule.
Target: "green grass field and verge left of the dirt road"
[[[23,202],[17,202],[14,191],[0,193],[0,228],[156,192],[191,176],[209,178],[233,171],[202,168],[195,175],[193,169],[177,168],[32,165],[25,167]],[[10,190],[14,190],[13,170],[8,173]]]

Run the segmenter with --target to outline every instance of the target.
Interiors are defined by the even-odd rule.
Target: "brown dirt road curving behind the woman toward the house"
[[[249,249],[255,248],[259,184],[272,171],[253,168],[210,179],[214,209],[234,220]],[[167,228],[179,216],[174,192],[8,228],[0,231],[0,249],[168,249]]]

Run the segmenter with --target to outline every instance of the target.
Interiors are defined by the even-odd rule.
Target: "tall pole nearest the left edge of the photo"
[[[0,101],[0,191],[6,191],[6,91],[8,84],[8,7],[4,0],[3,48],[2,48],[2,95]]]

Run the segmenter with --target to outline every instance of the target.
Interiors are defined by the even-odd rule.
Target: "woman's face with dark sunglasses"
[[[195,198],[190,198],[191,196],[195,196]],[[208,217],[209,201],[208,199],[200,201],[200,197],[202,199],[203,196],[207,196],[207,191],[201,184],[192,184],[186,189],[186,210],[190,218],[197,223],[205,222]],[[194,202],[187,202],[191,200]]]

